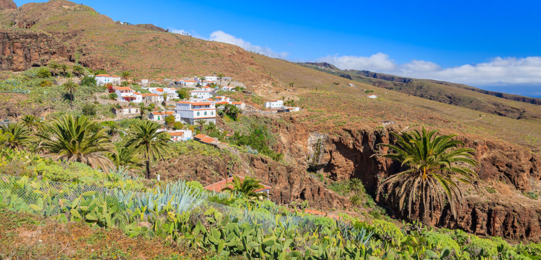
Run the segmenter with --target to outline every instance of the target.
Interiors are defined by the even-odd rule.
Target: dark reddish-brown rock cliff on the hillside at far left
[[[22,30],[0,31],[0,69],[23,71],[67,57],[64,44],[48,34]]]

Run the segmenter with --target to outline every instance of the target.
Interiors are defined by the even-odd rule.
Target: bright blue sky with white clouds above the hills
[[[27,2],[36,1],[15,1]],[[342,69],[484,88],[521,86],[541,96],[537,1],[77,3],[115,21],[152,23],[291,61],[327,61]]]

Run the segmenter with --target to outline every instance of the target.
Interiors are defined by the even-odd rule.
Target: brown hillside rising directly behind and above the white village
[[[5,0],[4,2],[11,2]],[[231,44],[124,25],[64,0],[29,3],[0,12],[2,69],[25,70],[51,60],[135,76],[178,77],[223,73],[249,84],[271,80],[252,53]]]

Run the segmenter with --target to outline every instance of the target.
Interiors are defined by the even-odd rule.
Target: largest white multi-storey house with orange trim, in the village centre
[[[212,102],[179,101],[176,102],[176,113],[180,115],[180,120],[189,125],[194,125],[200,119],[207,121],[207,124],[216,123],[216,107]]]

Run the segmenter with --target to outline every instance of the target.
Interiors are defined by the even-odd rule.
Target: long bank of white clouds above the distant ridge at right
[[[438,64],[412,60],[395,63],[387,54],[363,56],[327,56],[318,61],[329,62],[340,69],[371,70],[420,79],[443,80],[473,86],[541,85],[541,56],[495,57],[487,62],[441,68]]]

